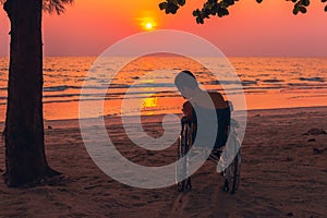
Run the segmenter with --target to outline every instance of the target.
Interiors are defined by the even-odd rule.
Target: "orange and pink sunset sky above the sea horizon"
[[[46,56],[98,56],[118,40],[148,27],[185,31],[215,44],[227,56],[327,57],[327,13],[311,1],[306,14],[292,14],[284,0],[241,0],[230,15],[195,23],[192,11],[203,0],[189,0],[177,15],[158,9],[161,0],[75,0],[65,14],[44,15]],[[150,26],[152,25],[152,26]],[[9,51],[9,21],[0,11],[0,56]],[[159,43],[159,41],[158,41]]]

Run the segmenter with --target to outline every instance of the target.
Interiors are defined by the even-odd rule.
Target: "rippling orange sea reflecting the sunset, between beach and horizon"
[[[192,71],[209,92],[220,92],[239,109],[327,106],[327,58],[230,57],[221,72],[211,72],[215,58],[201,62],[178,56],[116,57],[99,65],[96,57],[44,59],[44,117],[81,118],[80,102],[102,102],[98,116],[181,113],[185,99],[173,84],[177,73]],[[116,70],[114,72],[113,69]],[[0,121],[5,119],[9,59],[0,58]],[[229,76],[229,74],[231,74]],[[238,109],[238,107],[237,107]],[[19,110],[19,109],[17,109]]]

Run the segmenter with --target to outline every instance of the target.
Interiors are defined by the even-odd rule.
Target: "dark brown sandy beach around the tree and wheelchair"
[[[62,175],[28,189],[8,189],[1,181],[0,217],[326,217],[326,114],[327,107],[249,111],[235,194],[221,190],[222,177],[210,161],[192,177],[190,192],[121,184],[93,162],[77,120],[46,121],[48,161]],[[161,130],[157,119],[144,123],[154,136]],[[108,124],[108,132],[134,162],[157,166],[175,159],[175,146],[165,154],[131,146],[119,123]],[[0,146],[3,173],[3,142]]]

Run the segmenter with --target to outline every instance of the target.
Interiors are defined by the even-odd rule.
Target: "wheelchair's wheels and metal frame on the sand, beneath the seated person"
[[[227,101],[229,105],[229,110],[232,112],[233,107],[230,101]],[[241,146],[239,140],[237,137],[235,128],[238,128],[238,123],[235,120],[230,119],[229,125],[225,126],[228,131],[228,140],[226,141],[229,143],[223,144],[219,148],[206,148],[208,155],[208,160],[214,161],[215,164],[220,164],[221,172],[220,174],[223,177],[223,184],[222,189],[225,192],[235,193],[240,186],[240,177],[241,177]],[[178,144],[178,155],[177,158],[180,160],[184,158],[184,161],[179,161],[175,167],[175,178],[177,178],[177,186],[179,192],[190,191],[192,190],[192,182],[191,175],[189,172],[189,165],[190,165],[190,157],[192,154],[187,155],[191,152],[193,142],[196,137],[196,122],[183,117],[181,119],[181,134],[179,136],[179,144]],[[228,147],[228,148],[227,148]],[[226,150],[226,149],[229,149]],[[230,150],[232,149],[232,150]],[[232,155],[230,155],[232,154]],[[233,158],[230,160],[229,158]],[[222,166],[221,166],[222,165]],[[226,165],[226,166],[223,166]],[[219,167],[219,166],[218,166]],[[179,178],[185,178],[182,181],[179,181]]]

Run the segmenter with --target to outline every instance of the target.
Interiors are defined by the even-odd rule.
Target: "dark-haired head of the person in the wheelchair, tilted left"
[[[190,71],[182,71],[174,77],[174,85],[185,98],[192,97],[198,89],[198,84]]]

